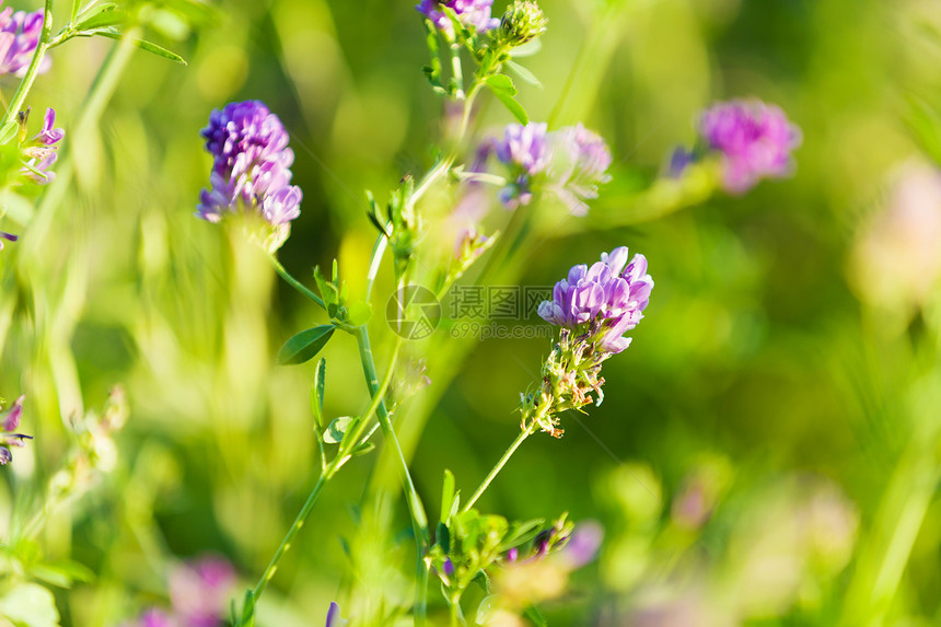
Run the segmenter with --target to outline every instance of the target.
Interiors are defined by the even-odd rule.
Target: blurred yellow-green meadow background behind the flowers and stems
[[[527,441],[479,503],[604,526],[597,559],[542,605],[549,624],[938,624],[941,233],[929,210],[903,230],[911,241],[871,244],[892,263],[873,264],[867,246],[891,231],[879,216],[905,181],[938,177],[925,170],[938,136],[911,120],[941,111],[941,5],[541,5],[549,30],[525,65],[544,89],[521,85],[520,100],[534,120],[601,132],[615,181],[586,219],[547,211],[519,283],[551,285],[619,245],[648,257],[657,283],[632,346],[605,365],[604,404],[564,418],[560,441]],[[189,65],[133,54],[81,133],[70,132],[75,112],[114,43],[53,51],[30,104],[59,112],[58,167],[73,175],[46,190],[60,201],[42,231],[31,224],[0,253],[0,392],[26,394],[23,430],[36,437],[3,469],[0,526],[40,507],[71,445],[70,416],[101,407],[115,384],[130,405],[114,469],[49,513],[40,536],[44,555],[95,573],[57,590],[63,625],[113,627],[166,606],[170,569],[206,551],[231,559],[247,585],[316,479],[314,364],[277,367],[275,355],[325,317],[241,233],[193,217],[208,185],[198,132],[209,112],[258,98],[280,116],[304,191],[280,259],[310,283],[314,265],[337,257],[360,293],[375,236],[363,189],[385,198],[403,175],[420,176],[441,137],[413,2],[232,1],[193,22],[155,11],[152,37]],[[4,81],[7,95],[15,81]],[[776,103],[800,126],[794,176],[657,220],[635,214],[637,186],[694,140],[697,112],[734,97]],[[477,129],[509,121],[485,103]],[[941,212],[937,181],[914,194]],[[497,208],[490,219],[508,218]],[[918,246],[927,252],[906,256]],[[381,277],[382,368],[393,336]],[[399,417],[432,512],[445,467],[469,494],[515,437],[519,393],[549,348],[462,346]],[[338,337],[326,359],[327,414],[362,411],[353,341]],[[410,602],[400,499],[359,509],[368,481],[397,486],[384,467],[359,457],[329,485],[262,624],[323,624],[333,600],[353,619]]]

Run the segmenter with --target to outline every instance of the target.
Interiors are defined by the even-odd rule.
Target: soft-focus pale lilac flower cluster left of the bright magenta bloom
[[[573,216],[584,216],[584,200],[597,198],[597,185],[611,181],[607,144],[581,124],[553,132],[544,123],[511,124],[502,139],[489,140],[480,152],[492,153],[510,171],[500,190],[500,201],[509,209],[528,205],[533,189],[542,184]]]

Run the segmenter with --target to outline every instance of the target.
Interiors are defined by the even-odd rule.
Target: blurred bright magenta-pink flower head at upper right
[[[723,184],[732,194],[751,189],[760,178],[787,176],[800,129],[785,113],[758,101],[719,103],[702,113],[699,131],[724,158]]]

